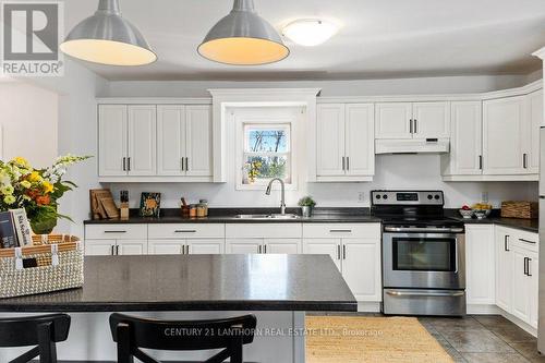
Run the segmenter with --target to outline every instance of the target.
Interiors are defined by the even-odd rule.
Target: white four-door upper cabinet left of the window
[[[106,182],[210,181],[209,105],[99,105]]]

